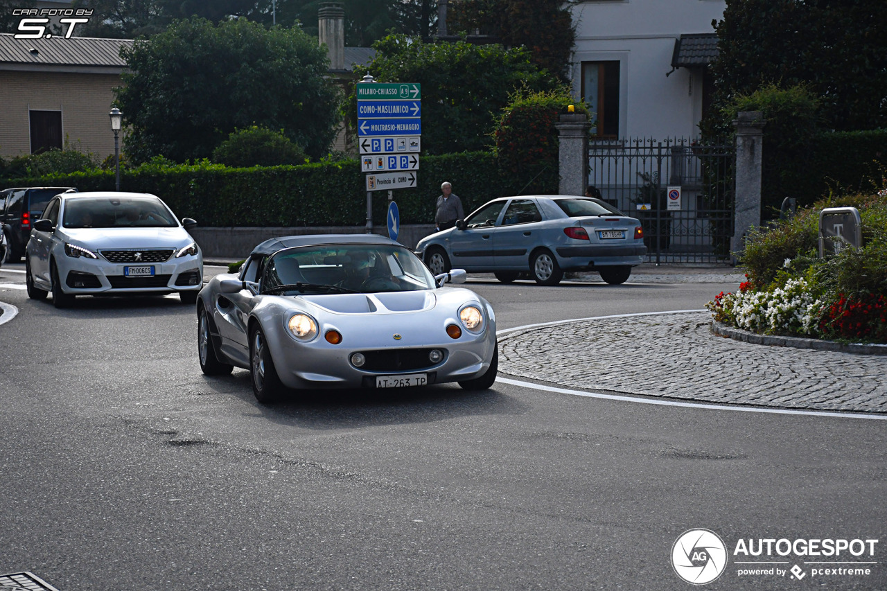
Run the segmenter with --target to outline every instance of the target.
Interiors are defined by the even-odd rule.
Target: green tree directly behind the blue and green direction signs
[[[530,63],[523,49],[498,44],[422,43],[406,35],[389,35],[373,43],[376,56],[367,67],[355,67],[359,79],[371,74],[376,82],[422,85],[422,150],[446,154],[488,149],[491,132],[508,96],[518,88],[547,91],[552,75]],[[347,103],[349,119],[357,123],[357,98]]]

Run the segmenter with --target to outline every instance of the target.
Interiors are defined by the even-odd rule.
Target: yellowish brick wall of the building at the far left
[[[108,111],[120,85],[117,74],[0,71],[0,156],[30,154],[28,110],[61,111],[63,141],[99,159],[114,154]]]

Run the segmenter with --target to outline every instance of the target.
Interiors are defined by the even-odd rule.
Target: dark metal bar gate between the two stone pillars
[[[648,262],[726,264],[734,227],[733,145],[592,139],[588,163],[588,184],[600,197],[640,219]]]

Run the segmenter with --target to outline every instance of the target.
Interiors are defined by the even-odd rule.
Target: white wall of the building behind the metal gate
[[[671,70],[680,35],[712,33],[725,0],[591,0],[573,4],[571,77],[581,96],[581,62],[620,62],[619,137],[694,138],[702,118],[702,73]]]

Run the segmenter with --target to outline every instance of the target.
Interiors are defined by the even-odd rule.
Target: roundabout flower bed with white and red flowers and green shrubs
[[[863,246],[820,259],[819,212],[840,206],[860,209]],[[748,281],[706,306],[716,321],[761,335],[887,343],[887,189],[820,201],[753,232],[740,262]]]

